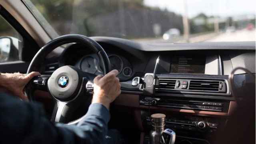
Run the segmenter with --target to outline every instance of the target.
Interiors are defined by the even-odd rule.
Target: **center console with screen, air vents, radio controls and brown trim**
[[[144,144],[148,144],[150,115],[155,113],[166,115],[166,128],[176,132],[175,144],[209,144],[225,125],[233,100],[230,84],[228,76],[206,74],[214,64],[219,68],[218,61],[209,59],[176,56],[171,59],[171,66],[165,68],[158,58],[154,73],[133,79],[132,85],[142,91],[139,105],[144,108],[141,110]],[[163,69],[169,73],[163,74]]]

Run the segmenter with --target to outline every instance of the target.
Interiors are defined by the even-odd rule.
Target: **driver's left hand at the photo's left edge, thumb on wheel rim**
[[[12,94],[18,96],[22,100],[28,98],[24,95],[24,88],[26,84],[34,77],[40,76],[39,72],[30,72],[28,75],[14,73],[14,74],[1,74],[0,75],[0,87],[4,87]]]

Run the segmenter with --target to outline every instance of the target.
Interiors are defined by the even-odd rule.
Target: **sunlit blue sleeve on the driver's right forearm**
[[[65,141],[76,144],[105,144],[110,119],[108,109],[100,103],[91,104],[86,116],[74,125],[57,124],[62,129]],[[71,133],[71,134],[69,134]],[[73,143],[68,142],[68,143]]]

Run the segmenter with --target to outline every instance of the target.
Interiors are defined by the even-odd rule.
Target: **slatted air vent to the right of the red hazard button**
[[[220,81],[211,80],[190,80],[189,90],[215,91],[218,92]]]

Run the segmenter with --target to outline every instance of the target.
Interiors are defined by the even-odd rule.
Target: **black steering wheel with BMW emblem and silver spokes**
[[[97,42],[86,36],[67,34],[55,38],[43,46],[30,62],[27,74],[32,71],[43,72],[42,67],[45,57],[58,46],[68,43],[82,44],[84,48],[89,48],[92,52],[98,54],[103,74],[111,70],[108,55]],[[50,92],[55,100],[51,121],[68,123],[71,120],[72,113],[81,108],[80,106],[84,108],[83,110],[88,109],[91,103],[93,79],[95,77],[96,75],[83,72],[74,66],[62,66],[56,69],[52,75],[41,75],[33,78],[27,84],[25,93],[30,100],[34,100],[35,90]],[[80,119],[76,122],[79,122]]]

